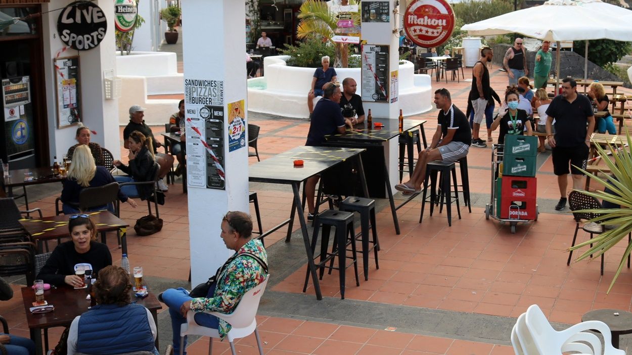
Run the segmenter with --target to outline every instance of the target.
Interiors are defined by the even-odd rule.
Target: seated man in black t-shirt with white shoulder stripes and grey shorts
[[[435,91],[434,103],[439,111],[437,131],[432,136],[432,143],[426,150],[419,152],[415,171],[408,181],[397,184],[395,190],[408,196],[422,191],[423,179],[426,176],[426,165],[433,160],[456,162],[470,150],[472,135],[470,123],[456,106],[452,104],[450,92],[444,88]]]

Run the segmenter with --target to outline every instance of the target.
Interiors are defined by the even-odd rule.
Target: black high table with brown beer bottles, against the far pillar
[[[366,121],[365,121],[366,122]],[[375,123],[381,123],[383,126],[381,128],[375,128]],[[403,132],[399,132],[399,122],[397,119],[373,119],[373,128],[367,128],[365,123],[360,123],[355,126],[353,129],[346,129],[346,133],[344,135],[328,135],[325,136],[327,141],[325,145],[327,147],[349,147],[349,148],[372,148],[379,147],[382,155],[384,155],[384,143],[392,138],[396,138],[399,135],[403,135],[406,138],[406,143],[408,145],[408,160],[409,164],[412,165],[413,159],[413,131],[417,127],[420,127],[422,130],[422,139],[424,147],[427,146],[426,135],[423,131],[423,124],[426,123],[425,120],[416,120],[416,119],[404,119],[404,127]],[[386,186],[386,192],[389,198],[389,202],[391,203],[391,212],[393,216],[393,224],[395,226],[396,234],[399,234],[399,222],[397,219],[397,210],[399,207],[395,206],[395,202],[392,194],[391,187],[391,179],[389,179],[389,170],[386,166],[386,161],[384,164],[384,185]],[[368,193],[365,195],[369,197]],[[409,199],[410,200],[410,199]],[[400,206],[401,207],[401,206]]]

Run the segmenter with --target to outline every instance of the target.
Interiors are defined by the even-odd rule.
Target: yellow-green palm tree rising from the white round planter
[[[356,0],[349,0],[350,5],[356,4]],[[308,37],[321,39],[323,42],[331,42],[334,45],[334,68],[346,68],[348,64],[347,44],[336,43],[332,37],[336,35],[337,18],[336,13],[332,13],[327,3],[319,0],[307,0],[299,9],[298,28],[296,29],[296,37],[304,39]],[[353,23],[360,25],[360,14],[352,15]]]

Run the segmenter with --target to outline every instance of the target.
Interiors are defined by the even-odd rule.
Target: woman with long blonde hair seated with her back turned
[[[90,150],[87,145],[81,145],[75,149],[73,155],[73,162],[68,169],[68,176],[61,183],[63,189],[61,190],[61,202],[63,202],[64,214],[76,214],[79,210],[75,207],[79,203],[79,194],[83,188],[94,188],[97,186],[107,185],[109,183],[116,183],[112,174],[102,166],[94,164],[94,157],[90,154]],[[124,193],[119,190],[119,200],[121,202],[127,202],[131,207],[136,208],[136,202],[131,198],[128,198]],[[91,211],[98,211],[106,209],[114,213],[114,207],[110,204],[107,206],[99,206],[90,208]]]

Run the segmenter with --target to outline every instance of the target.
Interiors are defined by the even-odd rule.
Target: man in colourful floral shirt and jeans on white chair
[[[179,354],[180,326],[186,323],[188,311],[198,312],[195,314],[195,322],[219,330],[219,335],[224,339],[231,330],[231,325],[214,315],[202,312],[233,313],[241,296],[268,276],[264,246],[258,239],[251,239],[250,216],[244,212],[228,212],[222,219],[221,229],[221,238],[226,248],[235,253],[217,270],[216,281],[209,288],[207,297],[191,298],[189,292],[183,288],[167,289],[159,296],[169,306],[174,354]],[[186,337],[184,346],[186,347]]]

